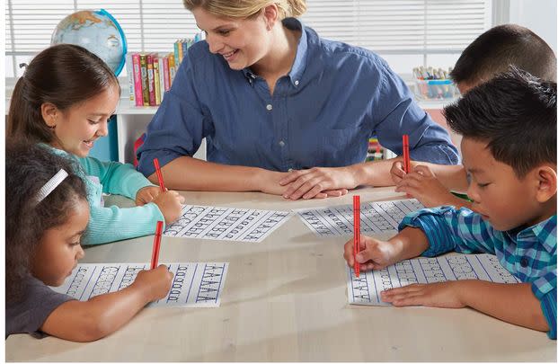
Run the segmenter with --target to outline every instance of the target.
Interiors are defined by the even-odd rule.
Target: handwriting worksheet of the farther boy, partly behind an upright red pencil
[[[415,199],[363,203],[360,206],[360,232],[366,234],[396,231],[405,215],[418,209],[424,209],[424,206]],[[352,205],[295,211],[315,235],[352,235]]]

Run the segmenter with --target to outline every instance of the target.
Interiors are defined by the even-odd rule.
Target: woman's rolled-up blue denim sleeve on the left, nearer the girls
[[[171,90],[147,127],[144,144],[137,149],[137,169],[146,176],[155,173],[154,158],[163,166],[178,157],[192,156],[208,134],[210,117],[199,103],[189,57],[182,60]]]

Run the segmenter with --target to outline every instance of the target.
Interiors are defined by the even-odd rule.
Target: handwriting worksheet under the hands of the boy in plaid
[[[355,271],[347,267],[347,298],[352,305],[389,306],[380,299],[385,289],[412,283],[447,280],[488,280],[518,283],[492,254],[451,254],[436,258],[415,258],[398,262],[380,271]]]

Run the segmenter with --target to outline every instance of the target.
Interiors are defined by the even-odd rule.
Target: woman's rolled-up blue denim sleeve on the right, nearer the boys
[[[401,136],[409,135],[411,158],[436,164],[458,164],[456,146],[447,130],[430,118],[414,101],[412,93],[399,75],[385,62],[382,67],[381,92],[376,101],[376,135],[382,146],[403,154]]]

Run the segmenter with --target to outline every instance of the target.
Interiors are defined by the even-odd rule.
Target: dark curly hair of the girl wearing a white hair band
[[[9,141],[5,156],[5,293],[6,302],[13,302],[21,297],[45,231],[63,225],[87,194],[84,182],[72,173],[73,162],[44,146]],[[37,203],[40,188],[60,169],[68,173],[66,179]]]

